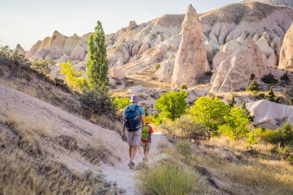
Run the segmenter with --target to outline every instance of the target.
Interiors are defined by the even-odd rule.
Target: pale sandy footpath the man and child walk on
[[[156,132],[152,136],[151,150],[149,157],[155,156],[160,141],[167,140],[166,136],[161,132]],[[127,145],[127,142],[123,142]],[[138,148],[137,155],[135,156],[134,163],[137,164],[142,161],[143,150],[142,147]],[[129,154],[126,153],[121,159],[121,163],[115,167],[111,167],[107,164],[101,166],[101,171],[107,177],[107,180],[117,181],[117,186],[126,189],[126,194],[140,194],[139,190],[135,186],[135,171],[130,169],[127,164],[129,162]]]

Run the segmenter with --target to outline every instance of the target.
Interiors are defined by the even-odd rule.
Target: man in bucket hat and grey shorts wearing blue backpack
[[[127,142],[129,145],[129,157],[130,161],[128,166],[130,169],[134,168],[134,157],[137,152],[137,147],[140,145],[142,138],[142,127],[144,127],[144,109],[141,106],[137,106],[137,95],[132,95],[130,102],[132,104],[125,106],[123,115],[123,127],[122,134],[125,134],[125,128],[127,130]]]

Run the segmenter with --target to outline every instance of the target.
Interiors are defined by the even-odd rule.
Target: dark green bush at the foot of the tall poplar
[[[110,116],[115,115],[117,111],[107,87],[84,89],[79,101],[88,116],[91,114]]]

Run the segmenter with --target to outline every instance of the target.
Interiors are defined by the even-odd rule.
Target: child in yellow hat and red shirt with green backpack
[[[151,135],[153,134],[153,129],[150,126],[151,118],[144,118],[145,126],[142,129],[142,148],[144,149],[144,158],[142,161],[147,161],[147,155],[151,149]]]

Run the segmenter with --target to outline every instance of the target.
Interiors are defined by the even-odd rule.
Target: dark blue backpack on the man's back
[[[135,105],[134,109],[130,110],[129,106],[127,106],[127,110],[125,111],[125,127],[127,131],[137,131],[140,129],[139,117],[137,115],[137,108],[139,106]]]

